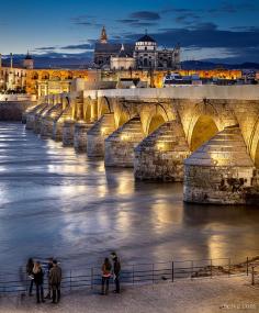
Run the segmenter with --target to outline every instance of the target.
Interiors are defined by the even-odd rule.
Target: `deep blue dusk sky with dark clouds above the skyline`
[[[259,63],[259,0],[3,0],[0,53],[91,56],[103,25],[110,41],[180,43],[182,59]]]

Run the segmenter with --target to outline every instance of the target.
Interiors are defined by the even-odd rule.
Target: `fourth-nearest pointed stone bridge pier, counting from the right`
[[[104,139],[115,131],[114,114],[106,113],[95,122],[87,134],[89,157],[104,157]]]

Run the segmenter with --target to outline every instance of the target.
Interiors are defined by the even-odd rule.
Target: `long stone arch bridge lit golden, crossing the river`
[[[45,97],[25,118],[136,179],[183,181],[188,202],[259,203],[257,86],[85,90]]]

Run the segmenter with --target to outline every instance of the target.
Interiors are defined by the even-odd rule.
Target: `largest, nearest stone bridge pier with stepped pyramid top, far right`
[[[226,127],[185,159],[184,201],[251,204],[254,170],[239,127]]]

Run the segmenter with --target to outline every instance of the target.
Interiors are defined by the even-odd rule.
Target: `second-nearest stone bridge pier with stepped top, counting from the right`
[[[181,123],[166,122],[136,147],[135,178],[182,181],[183,160],[189,155],[190,149]]]

